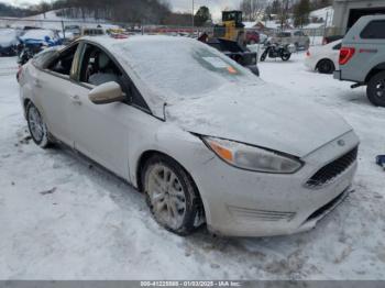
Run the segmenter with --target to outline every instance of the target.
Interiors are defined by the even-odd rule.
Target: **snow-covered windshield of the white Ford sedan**
[[[117,55],[161,97],[199,97],[231,82],[258,78],[196,40],[138,36],[113,45]]]

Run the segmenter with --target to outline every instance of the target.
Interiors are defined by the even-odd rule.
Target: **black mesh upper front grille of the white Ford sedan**
[[[359,147],[348,152],[342,157],[333,160],[323,168],[319,169],[307,182],[306,186],[317,188],[324,186],[336,179],[340,174],[346,170],[356,159]]]

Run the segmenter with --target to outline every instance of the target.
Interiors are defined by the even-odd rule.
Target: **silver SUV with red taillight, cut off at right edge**
[[[360,18],[342,41],[339,64],[336,79],[366,85],[369,100],[385,107],[385,15]]]

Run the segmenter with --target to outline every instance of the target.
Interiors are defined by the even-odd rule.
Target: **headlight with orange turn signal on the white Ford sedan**
[[[277,152],[216,137],[202,140],[221,159],[242,169],[292,174],[302,166],[299,159]]]

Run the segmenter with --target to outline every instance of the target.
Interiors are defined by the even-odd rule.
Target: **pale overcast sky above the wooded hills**
[[[47,0],[50,2],[50,0]],[[25,5],[25,4],[36,4],[41,0],[0,0],[0,2],[6,2],[15,5]],[[174,11],[191,11],[193,0],[168,0],[172,4]],[[207,5],[215,19],[220,18],[220,11],[224,9],[238,9],[241,0],[195,0],[196,10],[200,5]],[[113,3],[113,0],[111,0]]]

